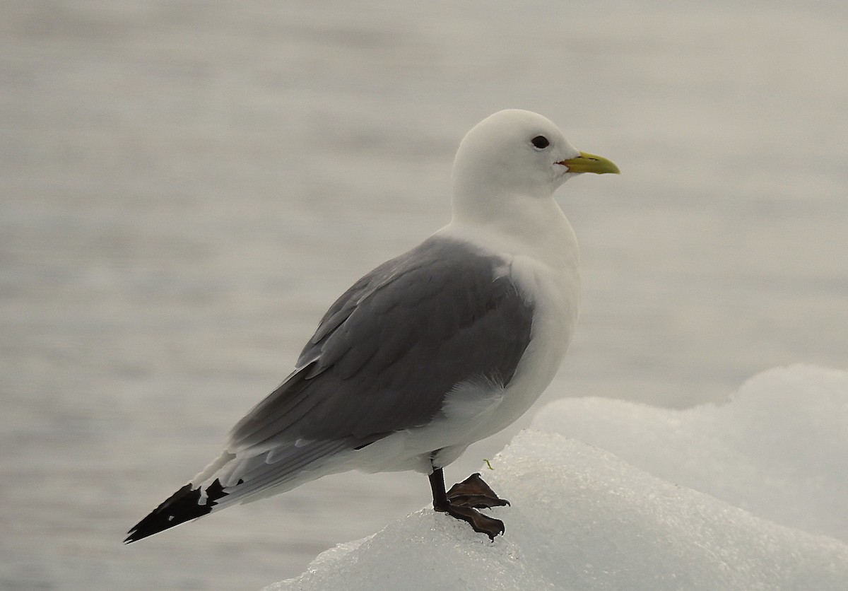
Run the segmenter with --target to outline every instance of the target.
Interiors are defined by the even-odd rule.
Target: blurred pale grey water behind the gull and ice
[[[622,169],[559,193],[584,304],[546,399],[846,365],[845,3],[5,2],[0,31],[0,588],[258,588],[425,505],[343,475],[120,544],[444,225],[498,109]]]

